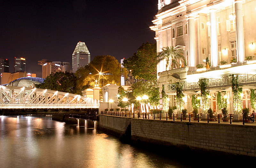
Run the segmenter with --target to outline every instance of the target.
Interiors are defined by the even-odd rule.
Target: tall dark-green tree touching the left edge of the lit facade
[[[124,60],[123,65],[136,79],[156,79],[156,58],[156,43],[147,42],[132,57]]]

